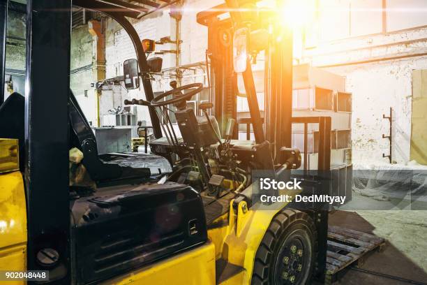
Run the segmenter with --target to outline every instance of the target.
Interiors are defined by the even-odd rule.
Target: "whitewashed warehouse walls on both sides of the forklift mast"
[[[315,0],[313,0],[315,1]],[[209,2],[209,3],[207,3]],[[181,84],[206,82],[204,52],[207,48],[207,29],[195,22],[197,12],[222,1],[188,0],[184,2],[181,20]],[[352,159],[354,162],[387,163],[389,142],[382,134],[389,135],[389,124],[382,119],[394,110],[392,136],[393,161],[408,163],[416,160],[414,128],[419,123],[412,108],[416,102],[412,92],[412,71],[427,69],[427,15],[422,0],[324,0],[317,1],[316,20],[306,27],[304,36],[296,35],[304,43],[294,52],[297,64],[309,63],[345,76],[347,92],[353,95],[352,110]],[[334,9],[328,9],[335,7]],[[405,11],[400,8],[405,7]],[[384,10],[385,9],[385,10]],[[343,10],[350,13],[342,13]],[[410,13],[410,14],[408,14]],[[6,75],[21,78],[23,85],[25,64],[25,16],[17,8],[10,11],[6,47]],[[338,24],[339,23],[339,24]],[[140,38],[158,41],[175,34],[175,21],[165,9],[143,20],[133,20]],[[103,23],[105,32],[106,78],[123,73],[123,61],[135,58],[126,32],[112,20]],[[93,38],[87,23],[72,30],[70,88],[82,105],[89,122],[96,122],[96,98],[93,96],[92,54]],[[301,47],[303,50],[301,51]],[[159,50],[173,50],[173,44],[158,46]],[[153,80],[153,90],[169,89],[169,82],[176,79],[174,54],[163,54],[164,71]],[[7,77],[6,77],[7,78]],[[20,88],[19,79],[13,88]],[[126,91],[123,87],[109,87],[119,100],[105,100],[103,112],[117,107],[125,98],[144,98],[142,87]],[[21,90],[24,93],[23,87]],[[108,94],[106,92],[105,94]],[[418,99],[417,99],[418,100]],[[101,101],[102,102],[102,101]],[[244,103],[240,103],[245,108]],[[418,105],[417,105],[418,106]],[[138,120],[149,123],[145,107],[138,108]],[[417,110],[415,110],[417,112]],[[420,123],[421,124],[421,123]],[[425,133],[425,130],[421,130]],[[417,135],[415,135],[417,136]],[[420,160],[420,161],[419,161]]]

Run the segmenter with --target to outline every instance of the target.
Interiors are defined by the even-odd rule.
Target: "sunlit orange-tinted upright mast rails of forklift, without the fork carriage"
[[[247,18],[239,11],[241,5],[255,6],[256,1],[227,0],[211,10],[197,14],[197,22],[208,27],[207,56],[211,59],[211,88],[215,102],[214,114],[218,118],[221,132],[227,119],[237,119],[237,75],[233,71],[233,35],[238,27],[245,25]],[[232,12],[230,12],[232,11]],[[221,19],[230,13],[231,17]],[[251,29],[264,28],[260,21],[250,24]],[[276,28],[276,27],[275,27]],[[272,153],[278,159],[280,147],[292,147],[292,31],[283,29],[280,39],[269,38],[265,54],[265,110],[261,117],[250,62],[242,73],[250,123],[255,140],[268,140],[273,145]],[[274,76],[272,76],[274,75]],[[264,125],[262,122],[264,121]]]

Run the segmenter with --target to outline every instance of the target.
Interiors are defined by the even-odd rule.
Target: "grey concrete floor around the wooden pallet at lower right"
[[[372,203],[383,209],[387,201],[367,201],[354,195],[354,204]],[[371,205],[372,206],[372,205]],[[337,284],[426,284],[427,283],[427,211],[423,210],[339,210],[329,216],[329,224],[373,233],[387,241],[384,251],[374,251],[361,269],[380,272],[415,283],[345,270]]]

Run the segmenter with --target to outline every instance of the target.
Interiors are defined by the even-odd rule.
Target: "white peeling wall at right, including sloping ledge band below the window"
[[[347,92],[353,94],[353,161],[384,163],[389,154],[389,122],[382,115],[394,109],[393,160],[410,159],[412,70],[426,69],[427,29],[419,28],[392,34],[376,34],[322,43],[304,51],[302,61],[313,66],[334,66],[329,71],[346,78]],[[405,57],[402,59],[391,59]],[[372,61],[375,62],[361,62]]]

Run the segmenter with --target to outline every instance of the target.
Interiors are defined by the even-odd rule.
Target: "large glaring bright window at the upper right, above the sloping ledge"
[[[306,47],[315,47],[317,38],[329,42],[427,26],[425,0],[322,0],[317,6]]]

